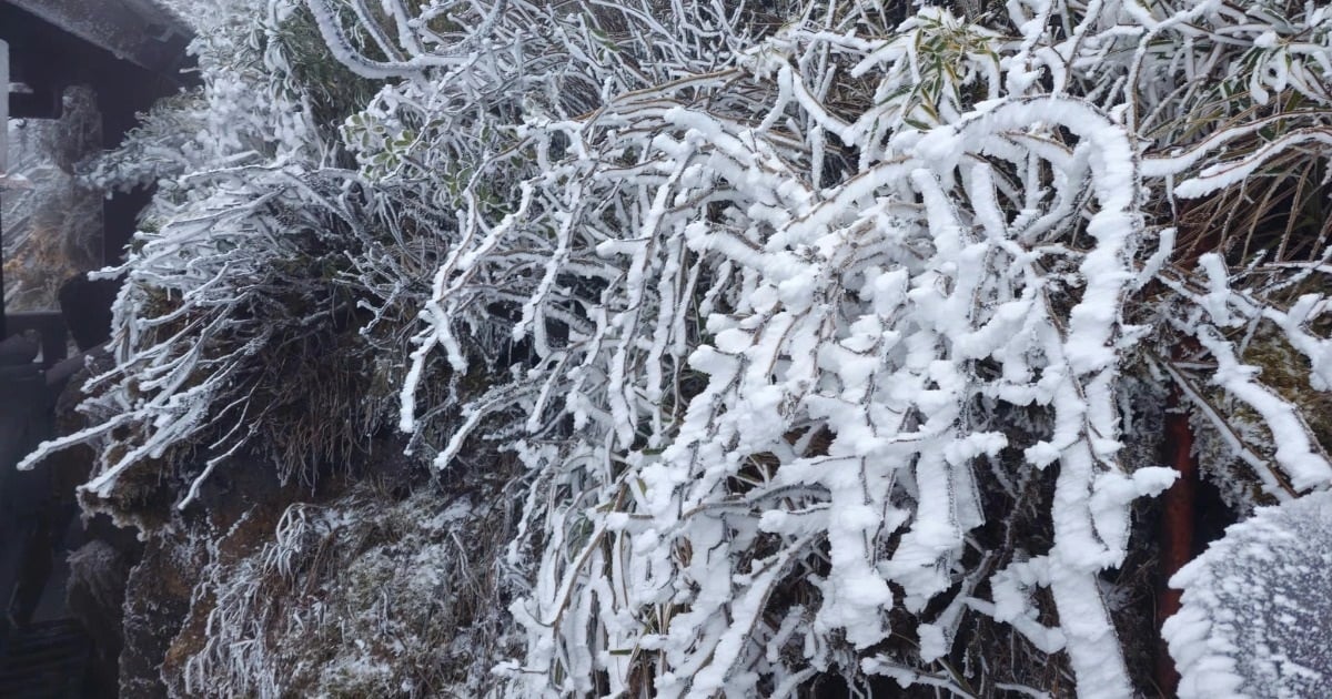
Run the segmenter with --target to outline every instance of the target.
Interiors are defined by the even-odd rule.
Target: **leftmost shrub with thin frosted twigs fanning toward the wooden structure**
[[[368,229],[382,212],[354,173],[326,166],[341,152],[324,141],[337,125],[317,112],[333,88],[298,75],[320,63],[312,53],[337,64],[302,8],[272,3],[260,21],[242,8],[201,8],[201,92],[160,104],[91,172],[107,188],[160,185],[127,264],[111,270],[127,274],[117,367],[84,405],[101,422],[49,445],[105,438],[85,502],[119,515],[186,506],[241,449],[310,478],[364,447],[396,402],[357,332],[365,289],[348,281],[388,237]],[[322,71],[350,79],[337,89],[352,100],[354,76]],[[180,469],[188,459],[201,467]],[[192,483],[174,493],[163,473],[178,470]]]

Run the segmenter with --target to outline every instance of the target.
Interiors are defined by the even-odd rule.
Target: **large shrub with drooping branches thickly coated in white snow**
[[[460,228],[477,233],[436,276],[414,359],[437,345],[465,366],[466,328],[521,302],[514,334],[531,334],[538,362],[469,409],[530,413],[539,439],[515,449],[565,494],[538,491],[529,515],[554,541],[514,606],[531,634],[509,667],[515,688],[782,694],[839,666],[964,692],[950,664],[927,668],[958,652],[959,627],[979,614],[1036,650],[1066,650],[1082,694],[1127,695],[1099,575],[1123,561],[1127,505],[1171,475],[1116,459],[1138,438],[1122,430],[1132,417],[1116,393],[1126,370],[1193,377],[1200,362],[1169,353],[1183,337],[1275,435],[1251,462],[1268,491],[1327,485],[1299,411],[1252,379],[1229,333],[1229,306],[1255,322],[1287,317],[1267,289],[1232,292],[1216,256],[1199,260],[1211,281],[1195,292],[1188,270],[1167,266],[1176,232],[1148,222],[1173,180],[1193,197],[1227,185],[1213,173],[1236,156],[1217,146],[1255,128],[1208,141],[1175,126],[1151,142],[1140,118],[1196,126],[1196,115],[1185,100],[1140,117],[1140,93],[1247,60],[1220,41],[1253,32],[1253,17],[1096,8],[1010,4],[998,28],[926,9],[894,28],[864,5],[832,5],[755,41],[718,5],[673,5],[669,23],[627,5],[619,27],[637,29],[614,55],[679,61],[671,80],[643,88],[641,72],[605,60],[589,63],[595,79],[542,76],[554,89],[533,71],[507,80],[523,120],[505,154],[530,156],[492,160],[497,174],[477,189],[494,197],[493,182],[533,161],[541,172],[492,222],[468,209]],[[468,100],[466,85],[510,68],[502,49],[523,12],[477,20],[485,31],[470,39],[493,53],[366,75],[438,71],[448,77],[422,95]],[[577,32],[598,12],[550,17],[558,41],[530,37],[523,51],[598,55],[601,33]],[[582,83],[602,85],[599,104],[571,97]],[[406,113],[422,107],[401,85],[384,95]],[[448,124],[418,136],[425,166],[465,152]],[[1304,321],[1281,322],[1321,361],[1325,341]],[[978,493],[1056,463],[1050,549],[968,555],[968,537],[1004,517]],[[1040,588],[1058,627],[1038,622]],[[895,610],[918,650],[892,647]]]

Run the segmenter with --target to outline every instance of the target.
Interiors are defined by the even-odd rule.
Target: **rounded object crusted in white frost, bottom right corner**
[[[1332,493],[1259,509],[1171,586],[1184,608],[1162,632],[1180,696],[1332,695]]]

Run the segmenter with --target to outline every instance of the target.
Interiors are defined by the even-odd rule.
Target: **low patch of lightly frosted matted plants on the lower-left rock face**
[[[237,555],[241,518],[209,545],[194,590],[202,647],[186,696],[458,696],[476,691],[509,640],[493,567],[502,503],[422,491],[397,503],[360,489],[294,503],[273,539]],[[486,530],[492,533],[489,541]],[[477,533],[482,533],[478,538]],[[509,638],[505,638],[509,636]]]

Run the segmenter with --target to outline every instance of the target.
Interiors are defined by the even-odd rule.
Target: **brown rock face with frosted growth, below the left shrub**
[[[484,691],[519,640],[509,578],[493,565],[513,535],[511,465],[444,487],[418,478],[402,445],[377,446],[365,478],[316,486],[236,459],[148,534],[123,592],[124,553],[81,549],[71,603],[91,610],[80,616],[100,638],[117,635],[107,610],[123,594],[120,696]]]

